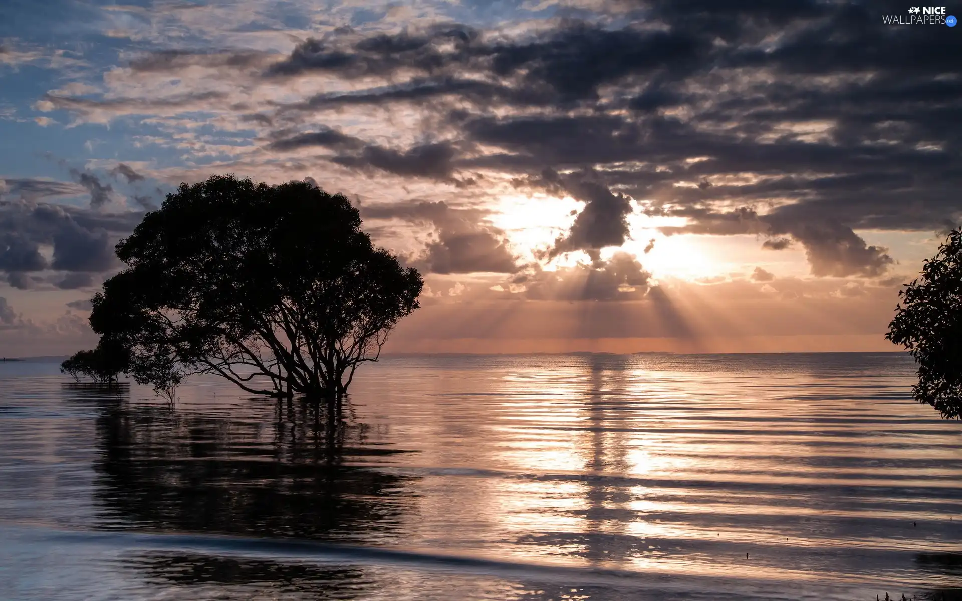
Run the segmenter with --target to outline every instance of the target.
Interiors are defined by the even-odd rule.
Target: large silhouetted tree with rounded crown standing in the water
[[[90,325],[155,389],[213,373],[254,394],[340,395],[423,288],[347,198],[302,182],[182,184],[117,257],[128,267],[94,296]]]

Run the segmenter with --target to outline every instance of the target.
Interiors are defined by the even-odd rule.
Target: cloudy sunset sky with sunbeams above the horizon
[[[94,343],[212,173],[353,199],[425,274],[395,352],[894,350],[962,213],[962,27],[908,8],[4,0],[0,354]]]

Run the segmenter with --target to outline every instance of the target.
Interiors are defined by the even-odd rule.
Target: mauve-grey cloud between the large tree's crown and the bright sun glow
[[[504,232],[486,224],[484,213],[453,209],[443,202],[407,202],[362,208],[366,219],[404,219],[430,224],[436,237],[424,253],[413,258],[432,273],[514,273],[515,257],[508,249]]]

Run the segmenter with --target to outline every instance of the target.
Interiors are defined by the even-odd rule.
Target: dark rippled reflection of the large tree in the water
[[[383,545],[398,541],[415,500],[413,477],[365,465],[405,451],[379,448],[349,407],[338,419],[323,404],[273,399],[229,415],[103,400],[94,502],[107,528]],[[169,584],[273,583],[312,594],[370,584],[354,566],[186,551],[131,563]]]

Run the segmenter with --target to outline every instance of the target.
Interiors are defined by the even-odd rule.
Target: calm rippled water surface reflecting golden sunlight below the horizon
[[[331,422],[0,363],[0,598],[959,598],[962,424],[913,370],[392,359]]]

